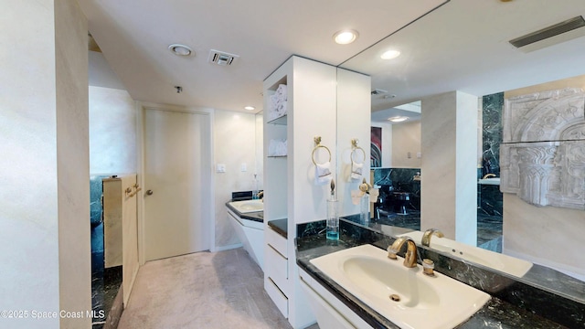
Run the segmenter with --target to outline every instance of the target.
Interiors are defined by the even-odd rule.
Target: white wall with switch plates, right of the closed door
[[[254,114],[235,111],[214,111],[214,171],[217,164],[226,164],[225,173],[215,172],[216,247],[226,249],[239,244],[231,228],[226,202],[231,192],[250,191],[256,167],[256,121]],[[247,171],[241,171],[246,164]],[[261,186],[260,186],[261,187]]]

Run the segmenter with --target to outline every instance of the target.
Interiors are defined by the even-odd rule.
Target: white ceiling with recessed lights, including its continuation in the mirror
[[[373,111],[450,90],[481,96],[585,74],[585,37],[532,52],[507,42],[585,16],[583,0],[78,1],[136,101],[261,111],[262,80],[291,55],[369,74],[372,89],[397,95],[372,96]],[[344,28],[359,37],[336,45],[332,36]],[[196,55],[173,55],[173,43]],[[402,55],[384,62],[386,48]],[[212,65],[210,49],[239,58]]]

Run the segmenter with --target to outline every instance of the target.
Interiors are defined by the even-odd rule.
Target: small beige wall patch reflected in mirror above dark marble
[[[392,168],[420,168],[417,153],[420,153],[420,121],[393,124]]]

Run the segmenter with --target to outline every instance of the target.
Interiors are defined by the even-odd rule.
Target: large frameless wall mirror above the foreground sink
[[[371,182],[380,188],[380,196],[371,208],[373,216],[367,224],[370,228],[398,236],[409,230],[419,232],[427,228],[449,230],[456,227],[459,220],[473,221],[471,225],[473,234],[471,232],[465,234],[472,237],[464,241],[467,246],[478,246],[484,250],[515,257],[517,260],[526,260],[534,266],[524,275],[516,276],[552,291],[567,293],[585,302],[582,283],[585,280],[585,267],[577,262],[582,258],[580,250],[585,249],[585,241],[582,239],[585,234],[585,207],[582,205],[582,200],[585,199],[583,196],[585,156],[582,155],[585,133],[583,124],[578,122],[583,120],[583,106],[579,101],[567,101],[564,110],[556,112],[558,115],[548,115],[548,122],[558,123],[559,127],[563,127],[558,129],[566,131],[565,134],[575,132],[572,133],[575,137],[573,142],[577,145],[570,144],[572,153],[566,156],[562,154],[567,153],[559,147],[569,147],[567,146],[569,144],[561,146],[558,143],[557,149],[550,151],[558,156],[542,158],[548,165],[547,168],[552,168],[551,174],[547,174],[548,178],[543,181],[555,182],[554,186],[542,186],[541,181],[535,184],[537,168],[522,163],[523,159],[526,162],[525,155],[526,152],[530,152],[529,150],[512,148],[509,152],[514,154],[508,156],[505,163],[500,159],[500,146],[517,142],[505,140],[506,133],[514,135],[514,132],[510,131],[514,125],[505,131],[505,122],[506,120],[513,122],[517,116],[521,116],[518,113],[522,113],[519,110],[522,106],[526,105],[526,111],[535,108],[535,111],[540,111],[538,109],[544,109],[548,103],[563,93],[558,91],[556,94],[547,94],[548,90],[585,90],[583,76],[580,76],[585,73],[585,67],[576,58],[576,54],[580,53],[578,48],[582,47],[582,37],[548,48],[526,51],[511,48],[505,40],[523,35],[527,32],[527,24],[538,26],[544,24],[544,21],[551,22],[558,17],[575,16],[576,12],[579,12],[576,8],[583,9],[582,4],[568,1],[567,5],[572,5],[575,10],[565,10],[558,5],[549,4],[546,5],[547,13],[537,17],[534,13],[541,11],[542,7],[536,10],[536,6],[542,4],[524,3],[523,9],[518,10],[517,2],[507,3],[509,4],[507,7],[496,3],[486,2],[480,9],[479,4],[474,2],[451,1],[341,64],[342,68],[371,75],[373,90],[371,126],[381,128],[382,132],[378,138],[381,147],[377,146],[381,148],[379,165],[372,165],[371,176]],[[462,11],[468,15],[459,15]],[[512,12],[514,15],[510,14]],[[508,30],[502,31],[491,26],[489,19],[484,19],[489,16],[502,18]],[[525,23],[512,24],[515,20]],[[444,24],[445,22],[452,24]],[[444,28],[437,29],[438,26]],[[452,38],[451,36],[458,35],[455,29],[462,26],[473,31],[470,37]],[[392,60],[381,59],[380,55],[388,48],[399,48],[401,55]],[[463,54],[453,49],[466,50]],[[429,58],[427,55],[430,52],[435,56]],[[464,219],[456,218],[454,223],[442,223],[434,221],[435,218],[441,218],[441,211],[437,211],[441,207],[433,207],[433,211],[425,212],[424,205],[438,203],[439,201],[435,200],[440,200],[441,195],[451,193],[447,188],[441,193],[441,185],[454,186],[452,182],[455,179],[452,178],[451,171],[435,169],[444,159],[436,154],[429,154],[428,151],[442,152],[452,157],[457,154],[454,151],[450,152],[447,147],[425,151],[424,144],[429,143],[432,138],[442,139],[445,130],[460,132],[459,128],[455,129],[453,128],[455,125],[451,124],[454,119],[441,122],[441,116],[434,116],[432,117],[434,120],[430,120],[431,116],[425,119],[425,115],[433,111],[446,110],[447,107],[436,105],[442,101],[437,97],[438,94],[454,93],[453,99],[458,100],[462,90],[455,90],[457,89],[455,86],[465,86],[463,93],[475,97],[477,104],[468,107],[468,111],[474,109],[477,111],[477,117],[474,121],[467,121],[476,128],[474,137],[473,133],[467,132],[469,140],[473,139],[475,143],[475,154],[467,156],[468,160],[465,160],[464,164],[467,168],[465,172],[468,173],[465,174],[465,180],[468,183],[464,190],[453,194],[473,196],[475,206],[472,206],[476,209],[470,209],[470,206],[465,210],[467,216]],[[506,118],[505,106],[515,98],[516,103],[518,98],[520,101],[524,100],[523,105],[516,106],[516,114]],[[537,100],[542,102],[537,103]],[[400,107],[412,101],[421,101],[418,121],[407,120],[402,123],[388,121],[390,116],[400,116],[401,113],[390,114],[386,111],[403,110]],[[563,114],[564,111],[580,114],[577,117],[569,117]],[[449,115],[451,114],[445,113],[445,116]],[[533,117],[537,120],[538,117],[544,118],[544,114]],[[476,125],[473,124],[475,122]],[[444,125],[442,131],[438,128],[441,125]],[[580,133],[576,133],[577,131]],[[546,142],[557,143],[565,138],[562,134],[558,132],[553,140]],[[454,145],[453,143],[452,146]],[[508,152],[506,150],[510,147],[506,146],[504,151]],[[532,157],[530,161],[537,164],[536,157]],[[573,168],[570,173],[560,168],[563,164]],[[504,177],[512,169],[519,173],[514,178],[515,182]],[[420,180],[416,180],[415,177]],[[568,180],[570,183],[567,183]],[[525,187],[535,186],[533,191],[520,192],[523,187],[519,185],[520,181],[525,182]],[[434,186],[433,193],[425,194],[422,186],[430,185]],[[550,188],[549,193],[535,192],[537,189],[540,191],[541,187]],[[502,193],[502,188],[505,193]],[[558,197],[561,200],[558,201],[550,197],[553,195],[563,196]],[[544,206],[542,200],[547,198],[548,205],[556,203],[563,207]],[[562,201],[566,199],[576,201]],[[465,202],[457,200],[453,204],[472,204],[470,197],[465,200]],[[448,232],[446,236],[447,239],[461,242],[452,232]],[[450,255],[449,252],[445,254]],[[556,284],[552,283],[553,281],[570,283],[563,286],[562,283]]]

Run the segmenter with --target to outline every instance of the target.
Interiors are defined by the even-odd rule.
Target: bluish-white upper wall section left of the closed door
[[[90,174],[136,169],[135,102],[126,90],[90,86]]]

